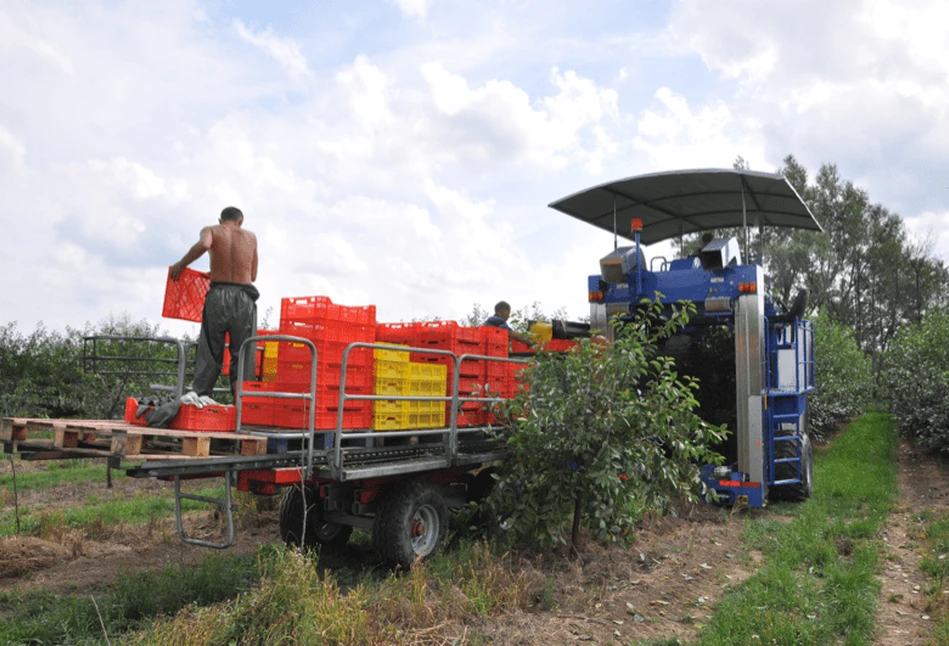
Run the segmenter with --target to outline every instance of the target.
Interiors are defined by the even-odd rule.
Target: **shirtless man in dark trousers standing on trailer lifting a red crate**
[[[230,334],[231,393],[238,380],[238,349],[257,334],[257,298],[251,283],[257,280],[257,236],[242,229],[244,214],[229,206],[221,211],[220,224],[201,229],[198,241],[184,258],[171,266],[178,280],[184,268],[210,252],[211,289],[204,301],[201,335],[195,358],[192,390],[210,396],[224,361],[224,334]],[[254,356],[244,362],[244,379],[254,378]]]

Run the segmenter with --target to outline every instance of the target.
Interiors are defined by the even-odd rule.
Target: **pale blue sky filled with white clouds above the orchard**
[[[580,317],[613,239],[547,205],[738,156],[836,164],[947,260],[947,22],[938,0],[4,0],[0,324],[196,334],[161,318],[168,266],[230,205],[270,327],[314,295]]]

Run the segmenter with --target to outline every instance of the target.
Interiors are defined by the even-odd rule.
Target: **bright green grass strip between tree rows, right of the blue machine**
[[[746,542],[764,565],[725,597],[699,643],[872,643],[876,535],[897,496],[896,448],[890,419],[864,415],[817,460],[814,498],[775,507],[790,522],[750,521]]]

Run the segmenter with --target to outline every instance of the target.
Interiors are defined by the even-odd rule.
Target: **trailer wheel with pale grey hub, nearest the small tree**
[[[417,558],[435,554],[448,533],[448,505],[427,480],[394,488],[376,510],[373,543],[390,567],[408,570]]]

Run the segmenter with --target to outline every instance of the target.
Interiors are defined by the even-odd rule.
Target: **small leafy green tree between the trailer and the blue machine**
[[[584,339],[572,352],[540,352],[500,413],[510,457],[488,500],[516,539],[578,546],[626,535],[648,509],[704,493],[700,465],[720,463],[724,438],[695,414],[697,383],[680,377],[659,341],[681,330],[694,305],[664,315],[646,303],[616,341]]]

